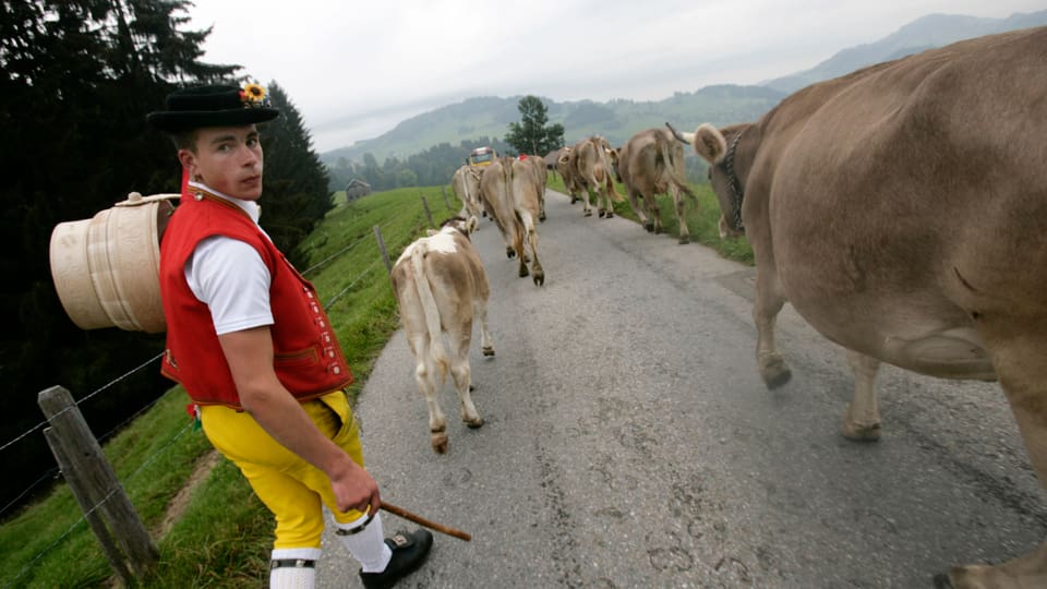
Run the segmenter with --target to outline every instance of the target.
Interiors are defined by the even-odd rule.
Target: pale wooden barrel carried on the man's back
[[[137,192],[91,219],[51,231],[51,279],[69,318],[82,329],[167,328],[160,303],[160,237],[178,194]]]

